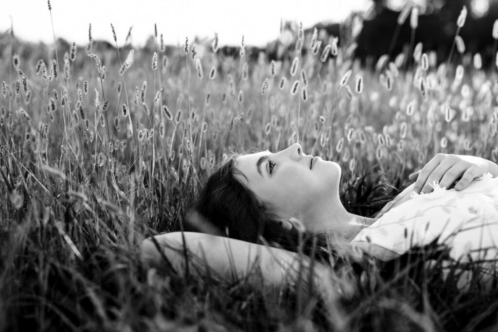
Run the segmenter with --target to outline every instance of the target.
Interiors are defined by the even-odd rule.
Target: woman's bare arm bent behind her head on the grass
[[[227,280],[234,281],[249,276],[253,268],[260,269],[264,280],[272,285],[282,285],[297,277],[300,263],[299,255],[295,252],[205,233],[183,234],[189,251],[202,260],[205,257],[207,265]],[[173,268],[183,274],[185,259],[182,233],[171,232],[154,238]],[[149,265],[157,267],[166,263],[150,238],[142,241],[140,250],[142,258]],[[303,266],[309,269],[310,263],[308,257],[302,257]],[[190,271],[195,271],[191,265],[189,264]],[[319,278],[325,278],[328,268],[315,262],[314,272]]]

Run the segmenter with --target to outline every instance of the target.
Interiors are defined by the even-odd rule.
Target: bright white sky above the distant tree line
[[[23,40],[53,42],[46,0],[3,0],[0,32],[10,27]],[[163,33],[165,43],[182,44],[185,37],[212,38],[221,45],[238,45],[242,35],[247,45],[264,46],[278,37],[280,18],[302,21],[305,28],[317,22],[337,22],[351,10],[367,9],[371,0],[51,0],[56,37],[78,44],[88,42],[88,24],[94,39],[112,41],[110,23],[123,44],[128,29],[134,45],[143,45],[154,33]],[[243,3],[243,4],[242,4]]]

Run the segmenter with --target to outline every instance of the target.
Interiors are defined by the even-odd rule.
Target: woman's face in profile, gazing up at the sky
[[[277,153],[240,156],[235,166],[256,197],[276,207],[282,218],[309,216],[339,196],[339,165],[304,154],[298,143]]]

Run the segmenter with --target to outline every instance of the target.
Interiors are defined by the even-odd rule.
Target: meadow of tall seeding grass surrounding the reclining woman
[[[407,10],[399,24],[416,29]],[[475,273],[458,287],[417,255],[331,269],[334,303],[301,279],[254,288],[140,260],[144,238],[189,229],[203,180],[243,147],[300,142],[338,162],[344,205],[361,215],[436,153],[497,162],[495,63],[466,52],[458,28],[445,59],[408,41],[362,65],[361,24],[341,36],[296,24],[257,54],[242,36],[235,53],[217,36],[165,47],[153,25],[155,47],[141,49],[111,25],[114,48],[91,31],[88,45],[46,47],[1,34],[0,329],[496,331],[496,282]]]

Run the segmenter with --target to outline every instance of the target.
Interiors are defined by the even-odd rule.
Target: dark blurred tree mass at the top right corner
[[[363,29],[358,36],[356,55],[363,60],[372,56],[373,60],[383,54],[391,57],[403,52],[411,39],[410,17],[399,29],[393,40],[399,10],[393,10],[390,0],[373,0],[370,17],[366,17]],[[418,1],[421,2],[421,1]],[[423,1],[422,1],[423,2]],[[479,3],[480,2],[480,3]],[[423,3],[415,31],[415,44],[422,42],[425,50],[435,50],[438,62],[445,61],[455,38],[457,18],[463,6],[468,9],[467,20],[460,30],[466,46],[466,53],[481,53],[483,64],[495,62],[496,40],[492,30],[498,18],[498,1],[488,0],[428,0]],[[480,11],[486,9],[484,12]],[[399,8],[396,8],[399,9]],[[459,61],[458,56],[454,56]]]

